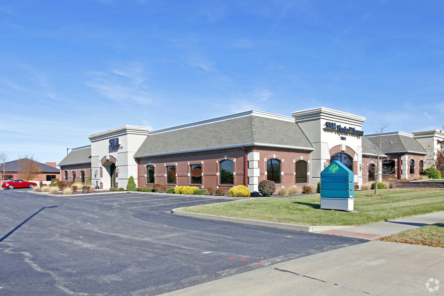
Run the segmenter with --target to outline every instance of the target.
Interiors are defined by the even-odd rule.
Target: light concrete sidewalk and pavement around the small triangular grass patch
[[[444,221],[444,212],[321,233],[374,240]],[[369,241],[165,295],[444,295],[444,249]]]

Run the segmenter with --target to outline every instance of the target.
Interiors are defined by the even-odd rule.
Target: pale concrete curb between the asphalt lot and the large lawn
[[[175,209],[172,209],[171,212],[173,214],[187,216],[187,217],[227,221],[227,222],[233,222],[233,223],[257,225],[257,226],[265,226],[265,227],[273,227],[273,228],[305,231],[305,232],[319,232],[319,231],[323,231],[323,230],[339,229],[339,228],[347,227],[347,226],[308,226],[308,225],[287,224],[287,223],[252,220],[252,219],[245,219],[245,218],[235,218],[235,217],[216,216],[216,215],[208,215],[208,214],[200,214],[200,213],[190,213],[190,212],[181,211],[180,209],[181,208],[175,208]]]

